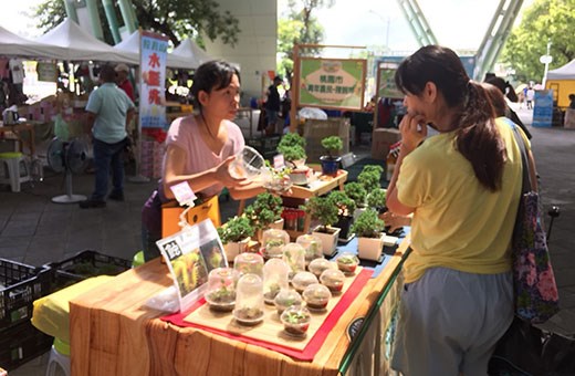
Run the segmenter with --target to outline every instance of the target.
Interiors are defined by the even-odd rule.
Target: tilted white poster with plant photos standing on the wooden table
[[[174,278],[182,312],[203,295],[208,273],[212,269],[228,267],[218,231],[209,219],[186,226],[156,244]]]

